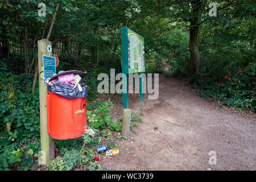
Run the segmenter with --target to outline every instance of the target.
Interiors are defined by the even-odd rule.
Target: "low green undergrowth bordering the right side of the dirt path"
[[[197,91],[203,97],[223,101],[226,105],[238,110],[255,111],[255,67],[255,63],[250,63],[243,71],[238,69],[237,73],[232,74],[233,76],[225,76],[225,81],[211,82]]]

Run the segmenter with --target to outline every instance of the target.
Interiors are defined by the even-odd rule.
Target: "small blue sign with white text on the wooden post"
[[[43,55],[44,84],[48,84],[52,75],[56,74],[56,58]]]

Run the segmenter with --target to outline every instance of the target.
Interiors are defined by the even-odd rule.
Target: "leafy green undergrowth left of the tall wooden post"
[[[27,86],[31,86],[31,77],[14,75],[3,63],[0,69],[0,128],[3,130],[0,133],[0,170],[18,165],[20,170],[28,170],[34,163],[32,154],[39,151],[40,142],[28,143],[28,151],[18,145],[29,142],[32,135],[39,135],[38,90],[37,96],[29,93]]]

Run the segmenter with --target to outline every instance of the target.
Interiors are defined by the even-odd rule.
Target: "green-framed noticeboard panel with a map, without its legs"
[[[122,72],[145,72],[144,38],[127,27],[121,28]]]

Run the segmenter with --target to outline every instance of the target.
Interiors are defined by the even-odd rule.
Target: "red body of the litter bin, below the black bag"
[[[84,113],[77,110],[84,109]],[[65,98],[49,92],[47,95],[47,132],[54,139],[79,138],[85,132],[86,97]]]

